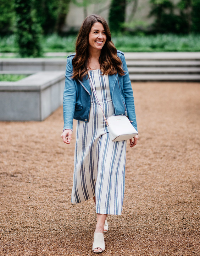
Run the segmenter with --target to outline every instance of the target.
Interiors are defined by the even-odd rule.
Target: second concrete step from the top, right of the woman
[[[127,60],[127,66],[200,66],[200,60]]]

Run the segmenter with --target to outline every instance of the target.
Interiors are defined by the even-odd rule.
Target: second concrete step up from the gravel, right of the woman
[[[133,73],[184,73],[200,74],[200,67],[128,67],[129,74]]]

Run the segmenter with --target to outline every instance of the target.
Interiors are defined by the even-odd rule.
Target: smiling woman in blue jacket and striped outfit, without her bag
[[[93,197],[97,223],[93,252],[105,250],[103,232],[107,214],[121,214],[124,196],[126,141],[112,142],[98,100],[108,118],[128,115],[137,129],[133,91],[124,54],[111,41],[110,29],[99,15],[89,15],[80,28],[76,54],[67,58],[63,96],[63,142],[70,144],[73,118],[77,119],[72,203]],[[138,135],[130,139],[137,144]]]

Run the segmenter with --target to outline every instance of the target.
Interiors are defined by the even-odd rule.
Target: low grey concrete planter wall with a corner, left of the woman
[[[0,82],[1,121],[43,121],[62,105],[65,74],[38,72],[17,82]]]

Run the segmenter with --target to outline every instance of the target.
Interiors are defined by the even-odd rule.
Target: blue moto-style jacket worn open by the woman
[[[67,57],[65,89],[63,94],[63,118],[65,129],[73,127],[73,118],[88,122],[91,105],[91,88],[89,79],[83,78],[83,81],[71,79],[73,73],[72,59],[75,54]],[[118,57],[122,60],[122,68],[125,75],[109,75],[109,86],[112,103],[115,109],[115,116],[127,115],[137,130],[135,117],[135,106],[133,99],[133,90],[130,83],[128,69],[123,52],[117,50]]]

